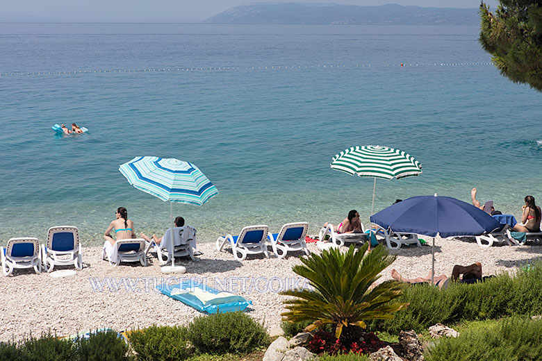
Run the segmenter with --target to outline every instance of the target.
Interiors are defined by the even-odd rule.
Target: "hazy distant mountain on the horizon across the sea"
[[[207,24],[479,25],[477,8],[354,6],[315,3],[254,3],[230,8]]]

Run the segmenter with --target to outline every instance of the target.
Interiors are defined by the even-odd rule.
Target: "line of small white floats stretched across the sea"
[[[224,70],[272,70],[272,69],[313,69],[313,68],[360,68],[360,67],[459,67],[475,65],[493,65],[491,62],[434,62],[429,64],[356,64],[356,65],[297,65],[297,66],[268,66],[268,67],[183,67],[183,68],[158,68],[158,69],[113,69],[113,70],[74,70],[73,72],[19,72],[1,73],[0,76],[29,76],[29,75],[71,75],[71,74],[94,74],[94,73],[145,73],[145,72],[198,72],[198,71],[224,71]]]

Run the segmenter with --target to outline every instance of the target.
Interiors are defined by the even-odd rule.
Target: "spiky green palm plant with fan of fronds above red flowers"
[[[352,245],[346,253],[330,249],[301,258],[303,265],[294,266],[293,271],[309,280],[313,290],[281,292],[296,298],[284,301],[288,311],[282,316],[290,322],[313,321],[307,331],[331,324],[339,339],[343,328],[366,328],[364,320],[391,319],[393,312],[406,308],[408,303],[391,303],[402,294],[403,283],[387,280],[371,287],[395,255],[389,255],[384,246],[366,253],[367,248],[368,243],[359,249]]]

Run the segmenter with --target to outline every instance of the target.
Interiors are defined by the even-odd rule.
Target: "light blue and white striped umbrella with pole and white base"
[[[175,158],[136,157],[119,167],[131,185],[170,202],[170,221],[173,225],[173,202],[204,205],[218,194],[216,187],[190,162]],[[171,244],[173,246],[173,233]],[[172,250],[173,251],[173,250]],[[184,267],[172,266],[163,272],[181,271]]]

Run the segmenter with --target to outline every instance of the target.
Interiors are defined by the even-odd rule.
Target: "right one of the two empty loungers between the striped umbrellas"
[[[304,251],[306,255],[311,254],[306,248],[307,230],[309,230],[309,224],[306,222],[287,223],[282,226],[279,233],[269,234],[273,253],[278,258],[286,257],[288,251]]]

